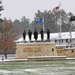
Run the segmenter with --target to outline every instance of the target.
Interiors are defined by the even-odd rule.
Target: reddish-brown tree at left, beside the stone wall
[[[14,42],[17,36],[17,30],[14,28],[11,20],[4,19],[0,24],[0,49],[4,52],[7,58],[7,52],[14,50],[16,44]]]

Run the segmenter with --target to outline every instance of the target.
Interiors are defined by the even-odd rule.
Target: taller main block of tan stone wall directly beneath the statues
[[[33,42],[16,44],[17,59],[27,59],[32,56],[57,56],[55,43]]]

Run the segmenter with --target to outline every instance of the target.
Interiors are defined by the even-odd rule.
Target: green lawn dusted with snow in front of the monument
[[[75,60],[0,62],[0,75],[75,75]]]

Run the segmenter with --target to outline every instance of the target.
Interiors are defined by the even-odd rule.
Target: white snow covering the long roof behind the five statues
[[[75,32],[71,32],[71,33],[70,32],[62,32],[61,33],[61,38],[62,39],[71,39],[71,36],[72,36],[72,39],[75,39]],[[50,33],[50,40],[55,40],[55,39],[60,39],[60,33]],[[33,35],[32,35],[32,39],[31,40],[35,41]],[[40,34],[38,35],[38,39],[37,40],[38,41],[41,40]],[[47,40],[47,34],[44,34],[44,40]],[[24,41],[23,37],[18,39],[18,40],[16,40],[15,42],[22,42],[22,41]],[[26,41],[29,41],[28,35],[26,35]]]

